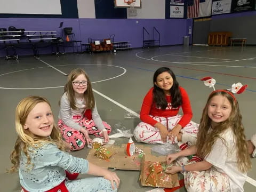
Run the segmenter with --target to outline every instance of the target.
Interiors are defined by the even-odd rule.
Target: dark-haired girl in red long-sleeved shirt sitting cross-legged
[[[145,143],[195,144],[198,124],[190,121],[193,114],[188,94],[178,81],[173,71],[161,67],[155,71],[154,87],[146,94],[140,111],[141,123],[135,127],[134,138]],[[183,116],[178,115],[180,107]]]

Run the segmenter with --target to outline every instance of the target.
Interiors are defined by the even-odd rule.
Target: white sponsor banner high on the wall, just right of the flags
[[[212,2],[212,15],[230,13],[231,0],[221,0]]]

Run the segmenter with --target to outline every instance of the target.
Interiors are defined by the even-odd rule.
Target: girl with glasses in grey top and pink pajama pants
[[[90,145],[89,134],[103,137],[108,142],[111,127],[102,122],[94,100],[92,85],[83,69],[73,69],[60,99],[58,126],[70,150],[83,149]]]

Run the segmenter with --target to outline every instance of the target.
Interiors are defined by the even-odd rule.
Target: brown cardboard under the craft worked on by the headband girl
[[[163,187],[163,188],[173,188],[180,186],[178,180],[178,174],[167,174],[165,172],[158,173],[159,185],[153,186],[150,183],[147,183],[146,180],[148,178],[149,170],[148,166],[153,162],[165,162],[165,156],[156,157],[151,154],[146,154],[143,157],[142,165],[141,165],[141,174],[140,181],[142,186],[150,186],[150,187]]]

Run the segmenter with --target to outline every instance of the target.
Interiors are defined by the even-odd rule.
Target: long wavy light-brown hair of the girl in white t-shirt
[[[219,123],[217,126],[209,132],[212,124],[212,120],[208,116],[208,107],[210,105],[211,99],[216,95],[222,95],[226,97],[231,105],[231,113],[228,119],[224,122]],[[207,103],[203,110],[203,115],[199,125],[199,132],[197,134],[197,153],[201,157],[206,157],[209,155],[214,142],[217,138],[220,138],[223,143],[225,140],[220,137],[220,134],[227,130],[229,127],[233,130],[234,137],[236,139],[236,149],[237,149],[237,163],[238,169],[242,172],[247,172],[251,169],[250,155],[247,150],[247,142],[244,134],[244,126],[242,124],[242,115],[239,110],[238,102],[234,100],[231,95],[225,91],[213,92],[209,95]],[[207,142],[205,142],[207,141]],[[226,144],[225,144],[226,145]]]

